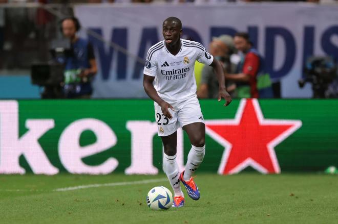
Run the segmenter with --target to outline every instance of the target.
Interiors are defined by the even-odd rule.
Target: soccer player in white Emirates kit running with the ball
[[[225,98],[224,106],[227,106],[231,102],[231,96],[225,91],[220,63],[200,43],[181,39],[180,19],[165,19],[162,33],[164,40],[153,45],[147,53],[143,86],[147,95],[154,100],[158,136],[164,146],[163,171],[175,193],[173,207],[183,207],[184,195],[180,181],[193,200],[200,198],[192,175],[205,154],[205,125],[196,96],[195,61],[214,68],[219,82],[218,101],[221,101],[221,97]],[[176,131],[179,127],[187,133],[192,144],[182,173],[179,173],[176,163]]]

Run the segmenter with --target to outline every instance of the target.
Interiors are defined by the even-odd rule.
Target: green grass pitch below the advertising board
[[[171,189],[164,175],[2,175],[0,223],[338,223],[334,175],[197,173],[196,183],[199,201],[182,186],[184,208],[152,211],[146,194],[154,186]],[[79,185],[91,186],[55,191]]]

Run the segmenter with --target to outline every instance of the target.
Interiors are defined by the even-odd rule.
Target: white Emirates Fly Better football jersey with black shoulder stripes
[[[167,102],[196,96],[195,61],[210,65],[214,58],[202,44],[181,39],[181,49],[172,55],[160,41],[146,56],[143,73],[155,77],[155,89]]]

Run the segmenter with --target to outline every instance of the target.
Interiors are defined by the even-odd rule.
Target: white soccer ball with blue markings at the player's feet
[[[148,192],[146,204],[153,210],[170,209],[173,205],[173,194],[163,186],[154,187]]]

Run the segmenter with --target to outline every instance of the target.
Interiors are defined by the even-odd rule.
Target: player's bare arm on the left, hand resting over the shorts
[[[160,105],[163,115],[169,119],[172,119],[173,116],[169,112],[168,108],[171,108],[172,110],[174,110],[174,108],[169,103],[163,101],[163,99],[157,94],[157,91],[153,85],[154,79],[155,77],[153,76],[148,76],[147,74],[143,75],[144,90],[146,94],[153,99],[153,101],[155,101],[158,105]]]

